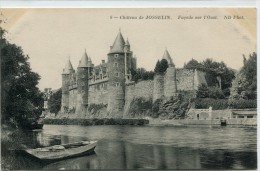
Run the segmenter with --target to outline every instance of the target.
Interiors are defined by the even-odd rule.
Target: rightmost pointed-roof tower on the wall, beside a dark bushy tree
[[[169,65],[164,77],[164,97],[170,98],[172,96],[175,96],[177,93],[176,69],[167,49],[164,52],[163,59],[166,59]]]

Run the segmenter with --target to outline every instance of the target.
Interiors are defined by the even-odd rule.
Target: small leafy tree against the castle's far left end
[[[61,88],[54,92],[49,101],[48,101],[48,106],[49,106],[49,109],[50,109],[50,112],[51,113],[58,113],[60,111],[60,108],[61,108]]]

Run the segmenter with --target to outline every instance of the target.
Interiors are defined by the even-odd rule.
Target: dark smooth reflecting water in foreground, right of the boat
[[[250,158],[250,159],[249,159]],[[101,141],[96,154],[44,169],[255,169],[256,153]]]

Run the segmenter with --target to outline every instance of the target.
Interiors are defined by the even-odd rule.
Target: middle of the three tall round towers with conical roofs
[[[92,64],[89,62],[88,55],[85,51],[77,68],[78,95],[76,113],[81,113],[88,105],[88,77],[91,67]]]

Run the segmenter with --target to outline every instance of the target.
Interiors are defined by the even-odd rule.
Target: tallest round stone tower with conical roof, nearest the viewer
[[[128,43],[129,44],[129,43]],[[128,49],[129,48],[129,49]],[[108,53],[108,112],[122,117],[125,105],[125,74],[128,72],[126,59],[130,55],[130,45],[125,46],[121,32],[118,33]]]

